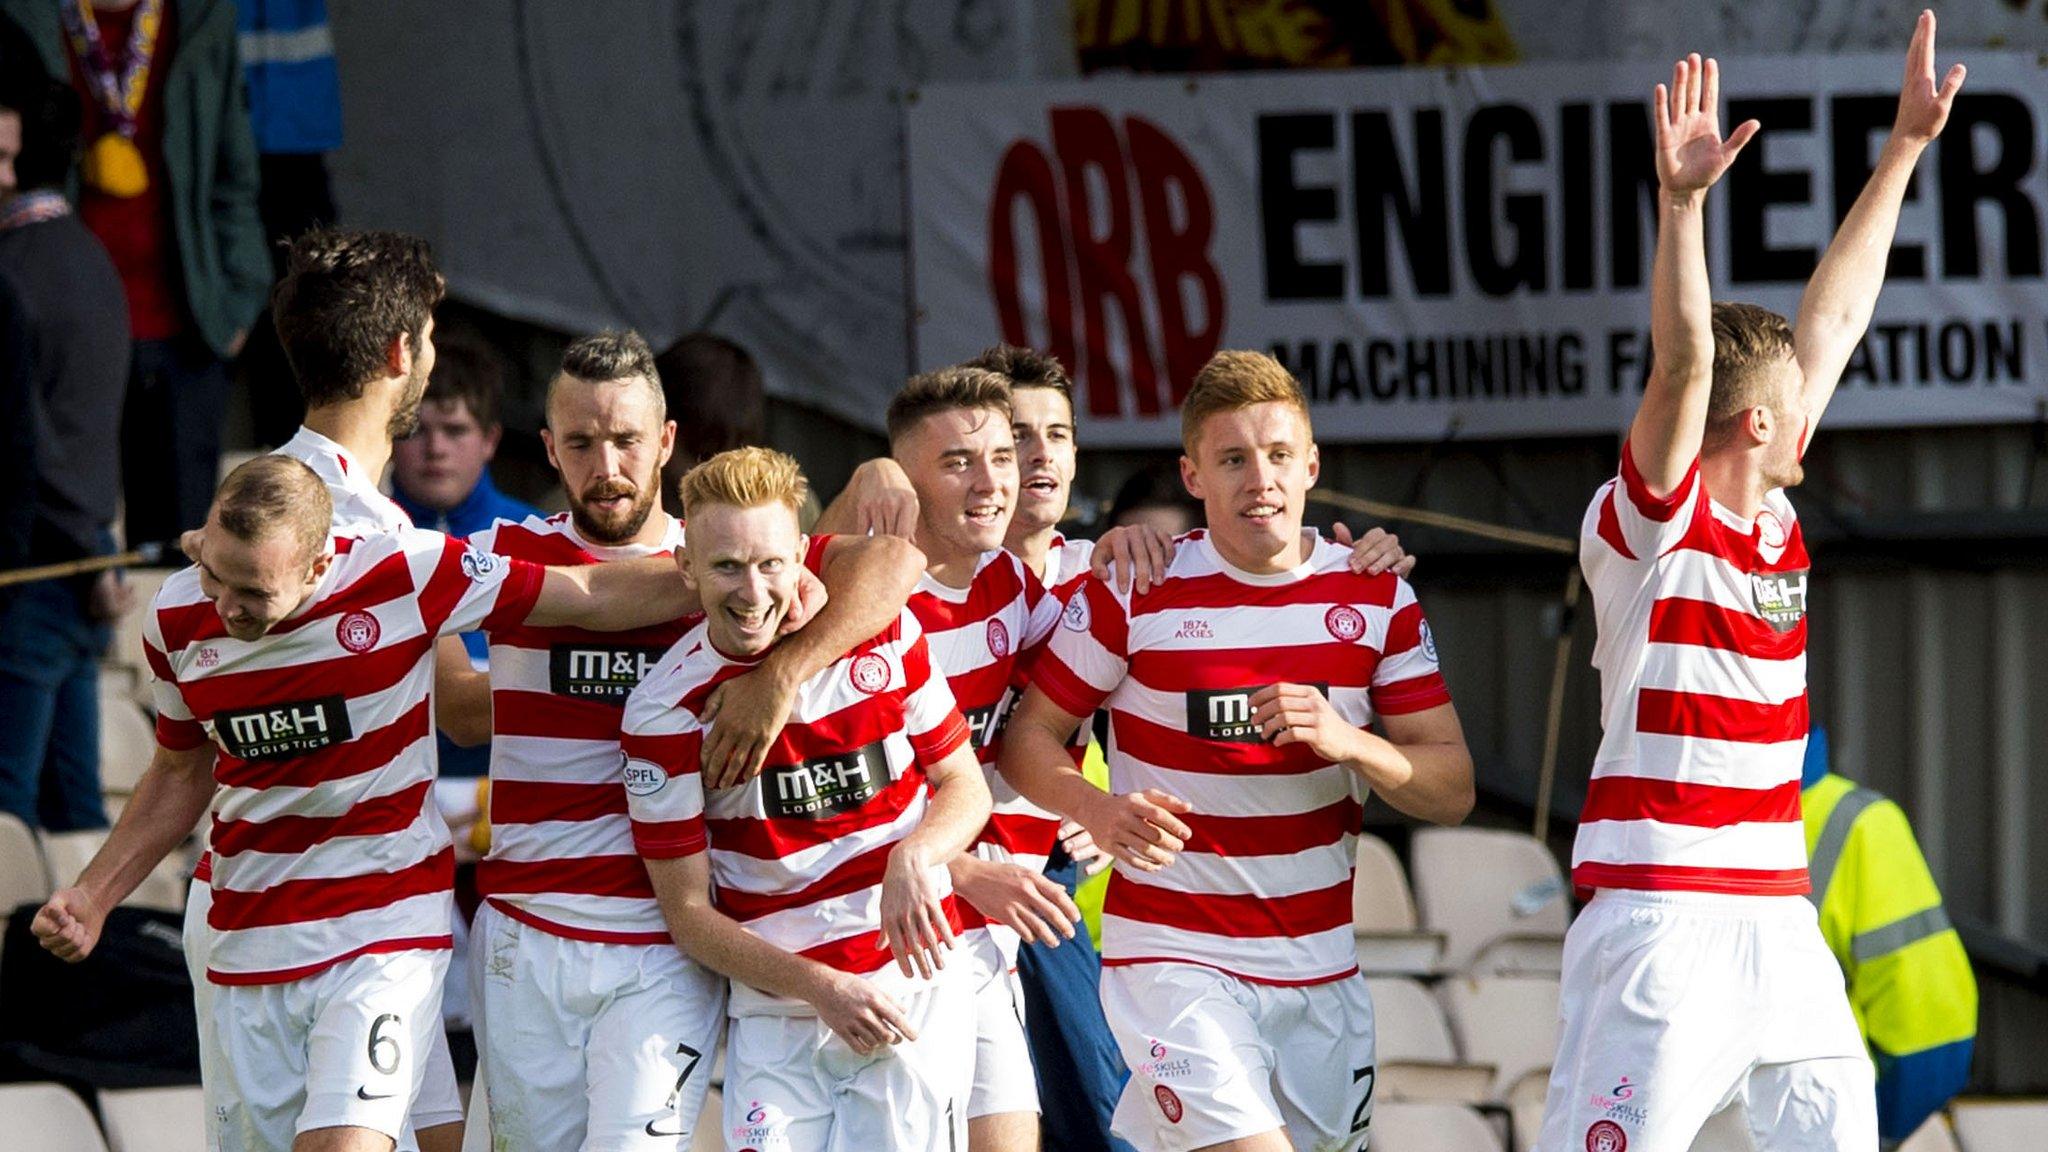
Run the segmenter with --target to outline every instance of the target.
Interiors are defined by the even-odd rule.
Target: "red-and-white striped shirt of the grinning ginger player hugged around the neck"
[[[721,654],[700,625],[627,697],[633,842],[647,859],[709,851],[725,914],[784,951],[905,986],[879,943],[883,871],[924,818],[926,769],[967,744],[967,719],[905,611],[803,683],[758,777],[707,797],[698,711],[754,664]],[[944,869],[934,871],[946,886]],[[958,927],[950,894],[946,908]],[[733,982],[733,1011],[809,1009]]]

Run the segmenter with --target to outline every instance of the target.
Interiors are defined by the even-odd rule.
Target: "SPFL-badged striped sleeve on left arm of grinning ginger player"
[[[618,746],[639,855],[662,861],[705,851],[705,779],[696,771],[705,730],[696,715],[635,689],[627,697]]]

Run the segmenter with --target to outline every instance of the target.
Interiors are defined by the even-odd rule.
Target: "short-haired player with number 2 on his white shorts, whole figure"
[[[1350,933],[1362,806],[1376,791],[1458,822],[1470,756],[1407,582],[1303,537],[1317,455],[1286,369],[1217,355],[1182,443],[1208,529],[1145,592],[1081,584],[1001,771],[1116,859],[1102,1006],[1133,1072],[1116,1134],[1167,1152],[1360,1148],[1374,1080]],[[1065,752],[1098,707],[1114,793]]]

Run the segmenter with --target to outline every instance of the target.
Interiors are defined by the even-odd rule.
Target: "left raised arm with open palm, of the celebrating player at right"
[[[1657,260],[1651,266],[1651,348],[1628,451],[1657,496],[1686,482],[1706,435],[1714,381],[1712,295],[1706,277],[1706,191],[1757,133],[1757,121],[1720,137],[1720,66],[1694,53],[1651,100],[1657,137]]]

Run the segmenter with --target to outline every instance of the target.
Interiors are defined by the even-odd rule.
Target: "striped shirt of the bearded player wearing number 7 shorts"
[[[682,523],[659,515],[668,533],[653,545],[594,545],[567,512],[500,521],[469,543],[535,564],[602,564],[680,545]],[[627,693],[702,619],[639,631],[516,623],[489,633],[492,853],[477,865],[477,890],[500,912],[580,941],[670,943],[618,789],[618,715]]]

